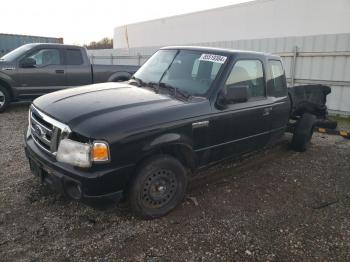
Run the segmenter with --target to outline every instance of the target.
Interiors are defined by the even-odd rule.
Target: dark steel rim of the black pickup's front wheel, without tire
[[[162,208],[176,195],[178,182],[168,169],[158,169],[146,177],[141,192],[141,201],[149,208]]]

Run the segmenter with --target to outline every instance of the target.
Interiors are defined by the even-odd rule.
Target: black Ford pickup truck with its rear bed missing
[[[128,83],[37,98],[25,151],[32,172],[69,197],[127,199],[138,216],[156,218],[182,201],[199,168],[276,143],[286,131],[295,150],[306,150],[325,101],[316,112],[293,97],[320,89],[288,95],[275,55],[162,48]]]

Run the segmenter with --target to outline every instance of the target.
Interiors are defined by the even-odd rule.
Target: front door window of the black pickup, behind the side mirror
[[[265,81],[263,65],[259,60],[239,60],[225,83],[226,88],[247,86],[249,98],[265,96]]]

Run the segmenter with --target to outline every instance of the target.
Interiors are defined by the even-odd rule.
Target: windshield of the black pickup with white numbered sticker
[[[159,50],[134,75],[145,84],[171,86],[204,96],[226,61],[225,56],[192,50]]]

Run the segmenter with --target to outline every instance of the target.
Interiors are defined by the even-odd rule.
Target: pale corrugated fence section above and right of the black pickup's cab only
[[[335,113],[350,115],[350,33],[199,45],[279,54],[290,85],[293,79],[294,85],[329,85],[332,93],[328,96],[328,107]]]

